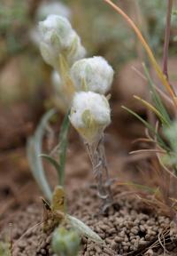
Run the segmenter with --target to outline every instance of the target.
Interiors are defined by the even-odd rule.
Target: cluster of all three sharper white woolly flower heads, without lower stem
[[[82,59],[85,49],[65,18],[50,15],[40,22],[39,28],[43,59],[61,71],[52,76],[58,106],[65,111],[73,98],[70,121],[84,140],[92,143],[102,136],[105,127],[111,123],[111,109],[104,94],[111,88],[113,69],[102,57]],[[60,58],[60,54],[65,60]],[[59,69],[59,65],[63,69]],[[74,94],[72,89],[76,91]]]

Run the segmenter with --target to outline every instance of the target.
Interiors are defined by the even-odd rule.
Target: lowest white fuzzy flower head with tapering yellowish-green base
[[[111,123],[111,109],[104,95],[76,92],[70,114],[73,127],[89,143],[96,141]]]

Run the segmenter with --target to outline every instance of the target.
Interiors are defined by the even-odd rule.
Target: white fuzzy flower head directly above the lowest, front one
[[[78,60],[71,68],[71,78],[76,91],[105,94],[112,86],[113,69],[103,57]]]

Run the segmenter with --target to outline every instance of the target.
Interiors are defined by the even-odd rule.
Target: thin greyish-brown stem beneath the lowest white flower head
[[[97,194],[103,200],[103,212],[112,204],[111,180],[104,152],[104,134],[92,143],[86,144],[97,183]]]

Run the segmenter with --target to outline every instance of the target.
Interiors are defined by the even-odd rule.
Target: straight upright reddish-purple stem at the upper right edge
[[[165,23],[165,42],[164,42],[164,54],[163,54],[163,73],[168,79],[168,50],[170,42],[170,28],[171,28],[171,13],[173,8],[173,0],[167,0],[167,12],[166,12],[166,23]]]

